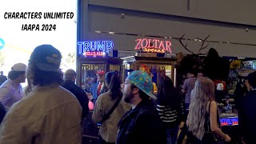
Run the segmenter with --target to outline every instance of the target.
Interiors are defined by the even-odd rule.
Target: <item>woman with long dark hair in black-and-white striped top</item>
[[[157,110],[166,125],[167,143],[175,144],[182,116],[182,96],[166,75],[158,83]]]

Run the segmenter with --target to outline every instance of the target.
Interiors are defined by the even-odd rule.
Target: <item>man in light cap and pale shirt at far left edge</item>
[[[16,63],[11,67],[6,82],[0,86],[0,102],[5,107],[6,111],[13,106],[15,102],[22,99],[22,82],[26,80],[26,65]]]

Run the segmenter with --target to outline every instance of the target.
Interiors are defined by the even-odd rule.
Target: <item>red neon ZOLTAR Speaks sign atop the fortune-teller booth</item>
[[[135,50],[143,50],[147,53],[165,53],[170,52],[171,53],[171,42],[170,41],[161,41],[159,39],[137,39],[137,44],[135,46]]]

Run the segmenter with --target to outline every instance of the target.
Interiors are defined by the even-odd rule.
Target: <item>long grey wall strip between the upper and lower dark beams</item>
[[[137,15],[126,15],[104,10],[90,10],[89,31],[113,31],[129,34],[157,35],[167,37],[206,38],[218,42],[237,42],[256,44],[256,30],[246,32],[245,28],[217,26],[196,22],[149,18]]]

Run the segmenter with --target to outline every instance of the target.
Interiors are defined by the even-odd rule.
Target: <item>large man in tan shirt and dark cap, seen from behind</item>
[[[74,94],[59,86],[61,53],[41,45],[30,55],[29,87],[12,106],[0,126],[0,144],[79,144],[82,108]]]

